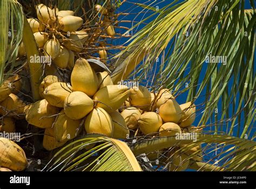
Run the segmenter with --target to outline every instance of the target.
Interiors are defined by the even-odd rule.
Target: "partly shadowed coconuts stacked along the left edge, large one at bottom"
[[[14,133],[16,120],[25,118],[26,104],[17,96],[21,88],[18,75],[5,79],[0,86],[0,133]],[[27,165],[23,149],[10,139],[0,137],[0,171],[22,171]]]

